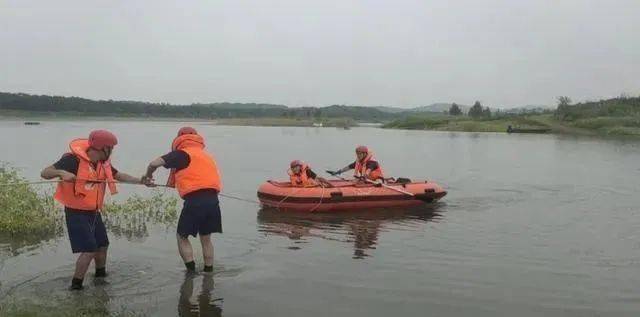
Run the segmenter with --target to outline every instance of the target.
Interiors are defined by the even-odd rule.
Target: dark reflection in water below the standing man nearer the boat
[[[194,281],[202,277],[200,293],[193,297]],[[213,274],[188,275],[180,287],[178,316],[222,316],[221,298],[213,298]]]

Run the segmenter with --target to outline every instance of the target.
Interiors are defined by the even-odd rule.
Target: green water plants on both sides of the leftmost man
[[[26,183],[15,169],[0,166],[0,245],[12,253],[64,233],[64,212],[52,194]],[[177,198],[160,189],[149,197],[134,195],[105,204],[103,209],[107,229],[130,240],[148,236],[148,223],[170,226],[177,220]]]

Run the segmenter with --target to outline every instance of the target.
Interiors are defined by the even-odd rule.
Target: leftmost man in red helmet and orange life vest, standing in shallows
[[[141,183],[140,178],[118,172],[111,166],[109,158],[116,144],[118,140],[111,132],[93,131],[89,139],[71,141],[71,151],[41,173],[44,179],[62,180],[54,198],[64,205],[71,250],[80,253],[71,281],[72,290],[82,289],[91,261],[95,262],[95,277],[106,276],[109,239],[100,209],[107,187],[113,195],[117,193],[116,180]]]

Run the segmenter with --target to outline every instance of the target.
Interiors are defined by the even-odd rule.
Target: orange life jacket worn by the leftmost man
[[[118,193],[111,162],[109,160],[96,163],[95,167],[89,159],[89,140],[76,139],[69,143],[70,153],[78,158],[78,173],[75,182],[60,182],[53,196],[65,207],[85,210],[100,211],[104,203],[106,187],[109,186],[111,195]],[[93,181],[93,182],[92,182]]]

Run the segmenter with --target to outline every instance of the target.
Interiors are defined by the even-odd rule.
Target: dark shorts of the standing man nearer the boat
[[[186,238],[190,235],[204,236],[214,232],[222,232],[218,192],[199,190],[185,196],[178,220],[178,235]]]

